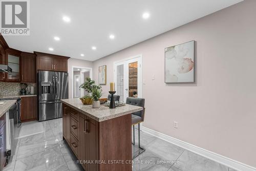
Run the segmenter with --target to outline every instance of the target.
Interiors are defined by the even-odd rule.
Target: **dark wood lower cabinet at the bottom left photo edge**
[[[3,167],[6,163],[6,115],[4,114],[0,118],[0,170],[3,170]]]

